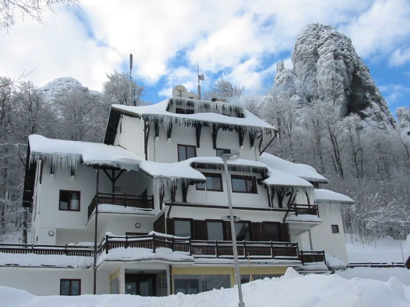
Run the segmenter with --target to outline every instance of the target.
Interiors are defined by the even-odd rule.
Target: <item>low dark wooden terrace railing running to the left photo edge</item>
[[[0,253],[91,257],[94,254],[94,247],[76,245],[31,245],[0,243]]]

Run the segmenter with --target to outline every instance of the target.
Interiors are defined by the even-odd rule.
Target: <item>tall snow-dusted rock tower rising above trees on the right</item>
[[[296,106],[322,100],[341,116],[358,114],[382,129],[395,125],[370,72],[350,38],[331,26],[311,24],[299,34],[292,54],[293,69],[277,65],[272,95]]]

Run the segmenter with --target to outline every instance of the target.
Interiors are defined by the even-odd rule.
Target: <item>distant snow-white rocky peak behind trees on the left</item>
[[[51,82],[48,82],[43,87],[40,87],[40,92],[43,94],[44,98],[52,102],[60,97],[67,96],[67,93],[87,93],[91,96],[102,95],[96,91],[90,91],[88,87],[83,86],[78,80],[71,77],[57,78]]]

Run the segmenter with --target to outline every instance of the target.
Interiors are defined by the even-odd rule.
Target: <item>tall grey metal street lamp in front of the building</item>
[[[231,198],[231,184],[229,182],[229,172],[228,172],[228,161],[235,161],[239,158],[239,152],[226,152],[222,150],[220,158],[223,161],[223,168],[225,171],[225,179],[227,182],[227,192],[228,192],[228,205],[229,205],[229,220],[231,223],[231,235],[232,235],[232,248],[234,251],[234,262],[235,262],[235,274],[236,274],[236,284],[238,285],[238,294],[239,294],[239,307],[245,307],[245,303],[242,298],[242,287],[240,283],[240,274],[239,274],[239,265],[238,265],[238,249],[236,247],[236,231],[235,231],[235,217],[232,209],[232,198]]]

